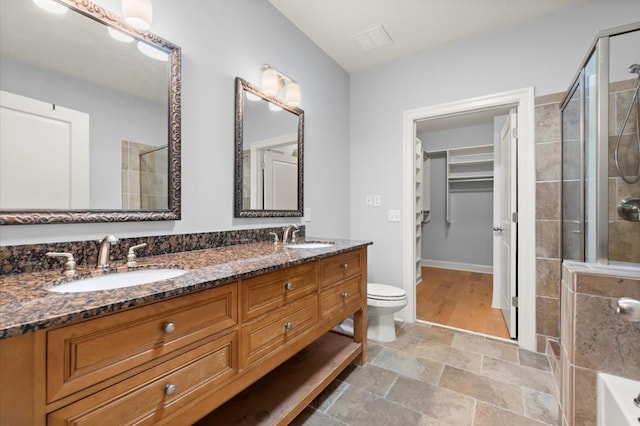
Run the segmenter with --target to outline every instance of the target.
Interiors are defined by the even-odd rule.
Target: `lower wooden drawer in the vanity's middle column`
[[[242,327],[240,368],[281,350],[318,323],[318,295],[290,303]]]

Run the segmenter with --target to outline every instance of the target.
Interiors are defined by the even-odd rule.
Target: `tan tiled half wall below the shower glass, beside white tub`
[[[620,297],[640,299],[637,274],[564,263],[559,386],[563,426],[596,425],[599,371],[640,380],[640,323],[616,313]]]

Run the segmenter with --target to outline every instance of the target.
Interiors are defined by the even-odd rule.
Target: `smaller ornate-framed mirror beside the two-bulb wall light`
[[[302,216],[304,111],[236,77],[235,217]]]

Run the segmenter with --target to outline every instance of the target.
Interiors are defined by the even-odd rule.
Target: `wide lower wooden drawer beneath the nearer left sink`
[[[156,424],[237,374],[238,332],[209,341],[109,389],[54,411],[47,424]],[[173,388],[171,388],[173,387]]]

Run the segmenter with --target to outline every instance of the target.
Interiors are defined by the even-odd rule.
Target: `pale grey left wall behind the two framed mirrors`
[[[119,14],[118,0],[98,0]],[[295,78],[305,111],[307,234],[349,234],[349,76],[263,0],[154,0],[152,30],[182,47],[182,220],[12,225],[0,245],[273,226],[233,218],[234,78],[259,84],[269,63]]]

